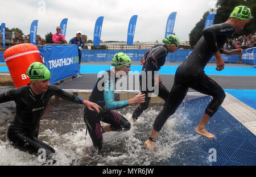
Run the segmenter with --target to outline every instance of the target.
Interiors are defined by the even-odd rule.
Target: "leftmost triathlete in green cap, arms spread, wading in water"
[[[27,70],[31,83],[27,86],[14,88],[0,94],[0,103],[14,101],[16,115],[8,129],[8,138],[11,145],[30,154],[38,154],[43,148],[46,155],[55,153],[55,150],[38,140],[39,122],[47,108],[51,96],[59,96],[65,100],[85,104],[90,109],[98,109],[96,103],[91,103],[76,95],[61,90],[59,87],[49,85],[51,74],[40,62],[32,63]]]

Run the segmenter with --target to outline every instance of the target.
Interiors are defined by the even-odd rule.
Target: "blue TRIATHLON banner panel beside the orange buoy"
[[[75,44],[45,45],[41,55],[44,55],[44,65],[51,72],[50,84],[72,77],[79,72],[79,54]]]

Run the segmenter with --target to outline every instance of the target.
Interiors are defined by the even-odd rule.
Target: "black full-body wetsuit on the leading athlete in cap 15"
[[[191,55],[176,70],[174,85],[171,88],[168,100],[153,125],[156,131],[159,132],[168,117],[175,113],[177,107],[187,95],[189,87],[213,97],[205,109],[207,115],[212,117],[218,110],[225,98],[225,92],[204,73],[204,68],[214,52],[218,50],[221,53],[223,52],[221,48],[233,33],[234,26],[230,23],[215,24],[203,30],[203,36],[196,44]]]

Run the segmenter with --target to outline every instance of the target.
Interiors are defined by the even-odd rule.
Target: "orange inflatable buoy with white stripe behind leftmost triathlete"
[[[15,87],[30,83],[30,78],[26,75],[28,66],[36,61],[43,64],[38,47],[30,43],[14,45],[3,53],[3,58],[5,58]]]

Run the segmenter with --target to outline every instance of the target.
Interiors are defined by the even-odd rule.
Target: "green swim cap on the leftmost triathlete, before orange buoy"
[[[51,73],[48,68],[40,62],[32,63],[28,67],[26,74],[31,81],[46,80],[51,78]]]

